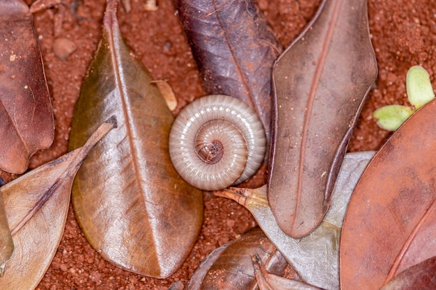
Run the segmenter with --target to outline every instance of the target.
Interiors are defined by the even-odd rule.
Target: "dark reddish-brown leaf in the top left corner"
[[[22,173],[29,157],[54,138],[42,57],[24,1],[0,2],[0,39],[0,168]]]

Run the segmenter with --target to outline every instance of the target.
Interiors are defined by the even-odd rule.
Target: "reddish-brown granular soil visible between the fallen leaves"
[[[177,113],[204,92],[171,1],[158,1],[158,10],[154,12],[145,10],[145,2],[133,0],[129,15],[119,9],[120,27],[127,43],[153,77],[169,81],[178,97]],[[318,3],[319,0],[258,0],[285,47],[311,18]],[[65,14],[59,37],[68,38],[77,46],[65,61],[54,56],[52,48],[58,9],[34,15],[52,94],[56,138],[49,150],[38,152],[32,158],[31,168],[66,152],[81,81],[100,39],[104,0],[63,0],[62,5]],[[75,5],[77,10],[73,9]],[[377,150],[387,139],[389,132],[378,129],[371,114],[386,104],[407,104],[408,67],[423,65],[433,83],[436,76],[436,2],[369,0],[368,7],[379,77],[357,123],[350,151]],[[7,180],[13,178],[4,172],[1,176]],[[181,289],[212,250],[255,225],[249,212],[235,202],[205,195],[205,221],[194,249],[174,275],[156,280],[122,271],[102,260],[81,234],[70,208],[59,250],[38,289]]]

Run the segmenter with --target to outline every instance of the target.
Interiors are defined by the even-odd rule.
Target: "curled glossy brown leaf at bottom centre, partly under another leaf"
[[[253,255],[275,275],[283,275],[288,265],[262,230],[255,228],[213,251],[192,275],[188,289],[256,289]]]

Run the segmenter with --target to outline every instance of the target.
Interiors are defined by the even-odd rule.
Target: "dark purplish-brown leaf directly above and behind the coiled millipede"
[[[252,106],[270,144],[271,71],[282,48],[256,3],[177,3],[205,91],[208,95],[230,95]]]

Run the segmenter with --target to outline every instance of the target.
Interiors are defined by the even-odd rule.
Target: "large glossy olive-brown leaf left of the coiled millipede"
[[[134,58],[109,1],[102,39],[81,87],[70,149],[116,115],[118,129],[81,166],[72,204],[86,239],[104,259],[151,277],[171,275],[201,229],[202,192],[169,159],[173,115],[146,68]]]

